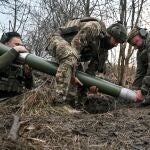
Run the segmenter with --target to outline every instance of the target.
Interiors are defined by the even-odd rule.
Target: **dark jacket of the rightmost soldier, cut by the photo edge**
[[[135,89],[141,89],[144,95],[150,92],[150,33],[142,49],[137,52],[137,71],[133,82]]]

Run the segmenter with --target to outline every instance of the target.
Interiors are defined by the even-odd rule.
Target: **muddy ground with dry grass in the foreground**
[[[99,96],[72,115],[43,92],[27,95],[21,104],[0,103],[0,150],[150,150],[150,106]]]

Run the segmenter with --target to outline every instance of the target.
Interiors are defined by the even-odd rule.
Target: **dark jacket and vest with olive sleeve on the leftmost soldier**
[[[33,86],[32,72],[25,76],[21,65],[14,64],[18,52],[14,49],[0,56],[0,91],[21,93],[23,87]]]

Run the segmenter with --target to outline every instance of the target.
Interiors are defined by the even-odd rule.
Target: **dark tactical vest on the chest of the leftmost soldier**
[[[21,93],[23,90],[23,70],[17,64],[0,71],[0,91]]]

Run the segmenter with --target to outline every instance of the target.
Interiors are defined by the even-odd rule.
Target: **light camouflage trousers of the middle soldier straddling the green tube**
[[[54,102],[63,103],[66,101],[71,77],[75,76],[78,53],[60,35],[51,37],[48,49],[53,51],[55,58],[59,62],[59,67],[56,72],[56,98]]]

